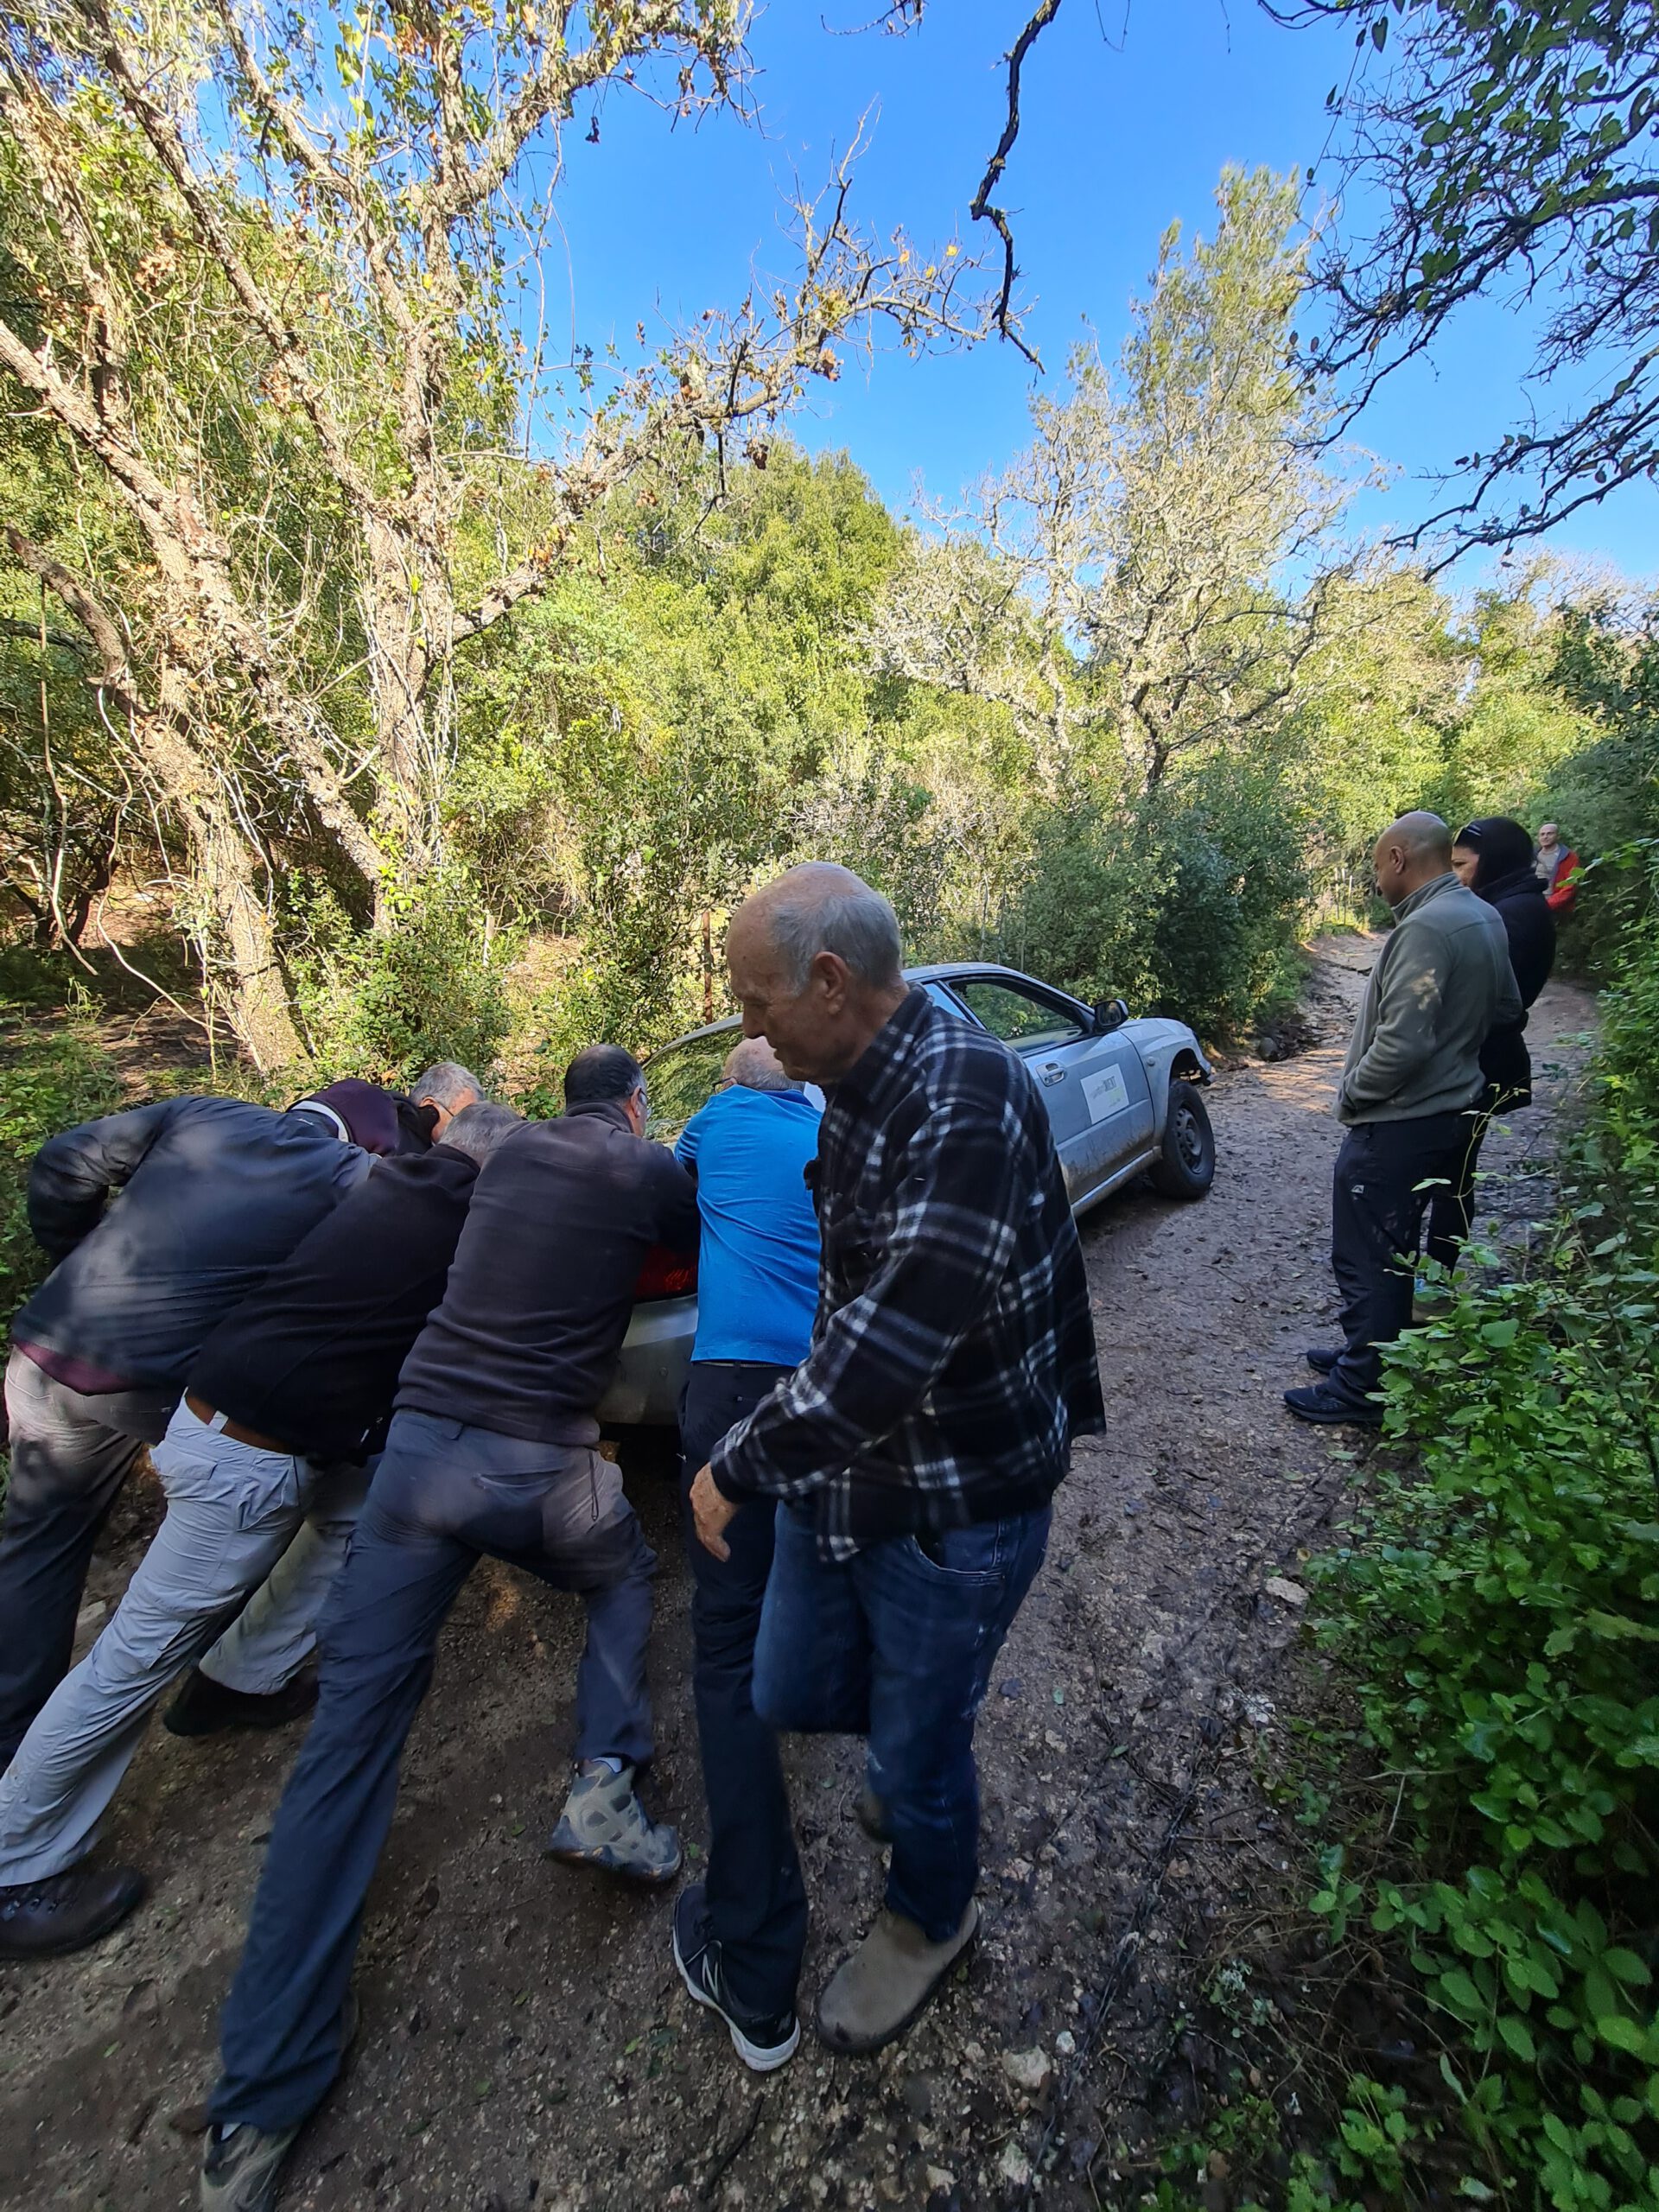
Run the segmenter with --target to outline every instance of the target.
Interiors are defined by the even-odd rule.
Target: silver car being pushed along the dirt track
[[[1214,1181],[1214,1133],[1201,1086],[1212,1068],[1186,1022],[1133,1020],[1121,998],[1099,1006],[1018,969],[962,960],[905,969],[947,1013],[1015,1051],[1048,1108],[1073,1214],[1148,1172],[1168,1199],[1201,1199]],[[741,1022],[710,1022],[646,1062],[646,1135],[675,1144],[708,1104]],[[617,1374],[599,1405],[606,1431],[672,1425],[697,1334],[697,1270],[655,1256],[635,1292]]]

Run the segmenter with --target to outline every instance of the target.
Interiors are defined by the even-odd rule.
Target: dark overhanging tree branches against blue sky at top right
[[[1329,106],[1340,188],[1383,221],[1332,243],[1318,367],[1352,411],[1484,294],[1535,305],[1533,405],[1460,458],[1411,533],[1444,560],[1551,529],[1659,471],[1659,4],[1655,0],[1263,0],[1338,18],[1360,51]],[[1566,387],[1551,407],[1548,387]],[[1588,385],[1588,396],[1582,396]]]

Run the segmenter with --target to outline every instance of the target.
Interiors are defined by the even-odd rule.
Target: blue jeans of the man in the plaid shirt
[[[929,1942],[956,1936],[980,1876],[973,1721],[1048,1544],[1048,1506],[825,1559],[779,1506],[754,1650],[754,1710],[772,1728],[869,1739],[887,1809],[887,1907]],[[929,1555],[931,1553],[931,1555]]]

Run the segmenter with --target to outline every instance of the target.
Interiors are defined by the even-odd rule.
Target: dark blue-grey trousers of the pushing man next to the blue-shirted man
[[[341,2064],[363,1900],[438,1630],[478,1557],[577,1590],[577,1759],[650,1759],[646,1641],[655,1553],[615,1467],[431,1413],[396,1413],[316,1632],[321,1694],[276,1807],[248,1944],[221,2022],[217,2121],[292,2128]]]

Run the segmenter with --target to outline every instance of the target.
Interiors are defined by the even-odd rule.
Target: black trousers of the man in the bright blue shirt
[[[681,1504],[697,1469],[787,1367],[699,1360],[679,1407]],[[708,1933],[739,2011],[794,2011],[807,1944],[807,1891],[790,1825],[779,1739],[754,1717],[754,1637],[772,1573],[776,1506],[754,1500],[726,1526],[730,1559],[703,1551],[686,1520],[692,1568],[692,1694],[708,1796]]]

